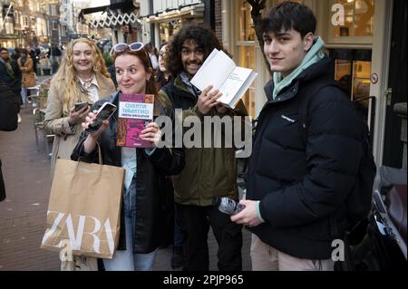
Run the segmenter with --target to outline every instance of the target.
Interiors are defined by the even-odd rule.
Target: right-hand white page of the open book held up
[[[222,92],[222,96],[221,98],[219,98],[219,102],[229,105],[241,90],[242,86],[246,84],[248,77],[251,75],[251,72],[251,69],[237,66],[234,71],[229,74],[228,79],[219,89],[219,92]]]

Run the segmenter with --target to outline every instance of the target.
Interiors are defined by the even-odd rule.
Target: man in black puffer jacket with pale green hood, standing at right
[[[332,271],[332,242],[349,228],[345,200],[358,179],[363,121],[330,84],[331,60],[306,5],[277,5],[262,29],[274,75],[253,140],[245,209],[231,219],[253,233],[253,270]]]

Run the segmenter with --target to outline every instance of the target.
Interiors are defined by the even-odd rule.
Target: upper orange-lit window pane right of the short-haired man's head
[[[332,26],[334,37],[373,36],[374,0],[335,0],[331,7],[340,4],[344,7],[344,24]],[[332,12],[333,14],[333,12]]]

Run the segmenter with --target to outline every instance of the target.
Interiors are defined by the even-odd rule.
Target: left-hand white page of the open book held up
[[[191,84],[201,92],[209,87],[209,85],[214,86],[212,91],[218,90],[228,78],[229,73],[234,70],[235,66],[235,63],[226,53],[214,49],[199,68],[199,72],[192,78]]]

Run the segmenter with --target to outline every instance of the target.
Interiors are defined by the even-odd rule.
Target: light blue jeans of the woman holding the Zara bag
[[[133,188],[132,188],[133,187]],[[134,254],[134,231],[136,229],[136,189],[134,184],[123,197],[126,229],[126,251],[116,251],[113,259],[103,259],[106,271],[152,271],[157,249],[149,254]]]

